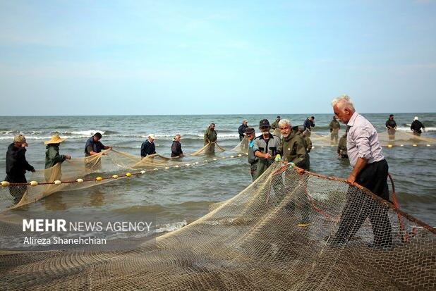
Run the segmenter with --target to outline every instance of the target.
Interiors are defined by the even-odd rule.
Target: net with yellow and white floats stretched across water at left
[[[0,196],[0,212],[4,209],[15,209],[32,202],[36,202],[55,192],[79,190],[97,184],[109,182],[116,178],[126,178],[131,175],[144,174],[156,169],[181,167],[190,163],[188,156],[213,154],[215,151],[225,151],[218,144],[206,144],[185,159],[170,158],[160,154],[147,155],[145,158],[128,154],[116,149],[105,150],[94,156],[66,160],[56,163],[52,168],[31,173],[30,181],[38,183],[37,186],[26,183],[15,183],[4,187],[8,189]],[[188,161],[186,160],[188,159]],[[101,178],[101,180],[100,180]],[[99,180],[96,180],[99,179]],[[4,186],[7,184],[4,184]]]

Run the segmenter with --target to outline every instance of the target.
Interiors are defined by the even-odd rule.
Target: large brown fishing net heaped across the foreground
[[[276,162],[211,209],[123,252],[1,252],[1,289],[436,288],[435,228],[342,180]]]

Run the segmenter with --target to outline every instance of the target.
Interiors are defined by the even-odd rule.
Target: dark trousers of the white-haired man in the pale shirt
[[[386,160],[370,163],[363,168],[356,182],[389,201],[388,168]],[[331,242],[333,244],[347,242],[356,235],[366,218],[369,218],[373,228],[374,246],[391,247],[392,225],[389,222],[387,211],[387,206],[383,206],[367,194],[358,191],[356,187],[349,187],[339,228]]]

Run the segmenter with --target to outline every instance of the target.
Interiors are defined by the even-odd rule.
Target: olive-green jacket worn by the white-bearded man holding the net
[[[293,130],[288,137],[281,139],[277,154],[280,154],[284,161],[295,163],[296,166],[309,170],[307,144],[298,130]]]

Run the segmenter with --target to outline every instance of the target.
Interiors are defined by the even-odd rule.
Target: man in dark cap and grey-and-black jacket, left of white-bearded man
[[[267,119],[260,120],[259,129],[262,135],[255,138],[253,145],[253,152],[259,158],[255,179],[262,175],[274,162],[280,145],[280,138],[270,133],[270,121]]]

